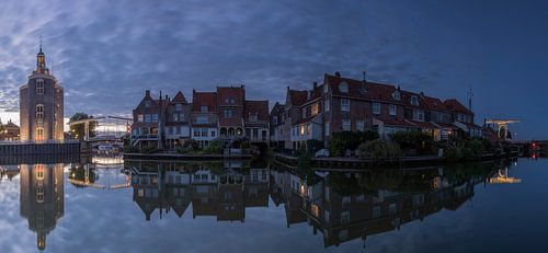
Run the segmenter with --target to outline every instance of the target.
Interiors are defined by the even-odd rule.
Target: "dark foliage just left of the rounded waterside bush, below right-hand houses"
[[[329,151],[332,157],[342,157],[347,149],[356,150],[361,143],[378,138],[378,134],[372,130],[334,133],[329,141]]]

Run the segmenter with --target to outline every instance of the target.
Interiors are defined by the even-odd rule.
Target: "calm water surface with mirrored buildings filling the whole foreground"
[[[0,252],[546,252],[548,160],[2,165]]]

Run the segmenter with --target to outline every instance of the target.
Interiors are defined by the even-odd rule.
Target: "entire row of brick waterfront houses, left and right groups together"
[[[213,92],[193,90],[192,102],[182,92],[174,97],[152,97],[146,91],[133,112],[134,145],[174,148],[194,140],[250,140],[298,149],[307,140],[323,141],[340,131],[375,130],[381,138],[396,131],[422,130],[445,140],[461,129],[482,136],[473,112],[455,99],[437,97],[398,85],[326,73],[310,90],[287,87],[285,103],[246,99],[241,87],[218,87]]]

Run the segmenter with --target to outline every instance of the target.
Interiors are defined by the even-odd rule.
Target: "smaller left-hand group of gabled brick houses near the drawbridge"
[[[155,99],[147,90],[133,117],[132,140],[139,147],[174,148],[194,140],[203,148],[215,139],[261,143],[270,139],[269,101],[247,100],[243,85],[193,90],[191,103],[182,92]]]

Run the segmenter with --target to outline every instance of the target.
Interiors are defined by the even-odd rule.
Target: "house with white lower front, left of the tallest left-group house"
[[[219,117],[217,115],[216,92],[192,92],[191,127],[192,139],[199,147],[207,147],[218,135]]]

